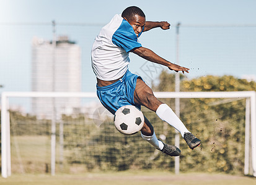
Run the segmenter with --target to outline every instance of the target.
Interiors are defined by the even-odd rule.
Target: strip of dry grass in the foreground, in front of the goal
[[[207,173],[185,173],[174,175],[169,172],[154,171],[123,171],[123,172],[106,172],[106,173],[86,173],[79,175],[12,175],[9,178],[0,178],[0,184],[188,184],[188,185],[238,185],[238,184],[256,184],[256,178],[248,176],[234,176],[224,174],[207,174]]]

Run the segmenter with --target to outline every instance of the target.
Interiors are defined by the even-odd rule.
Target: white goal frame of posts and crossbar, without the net
[[[252,170],[256,176],[256,92],[154,92],[157,98],[245,98],[245,158],[244,174],[249,175],[249,156],[252,152]],[[1,94],[1,168],[2,177],[11,176],[11,134],[9,97],[97,97],[95,92],[2,92]],[[251,130],[251,138],[250,138]],[[51,144],[55,138],[51,138]],[[251,140],[250,140],[251,139]],[[251,147],[250,147],[251,143]],[[250,151],[251,149],[251,151]],[[51,147],[51,167],[55,167],[55,149]],[[55,168],[53,168],[55,169]],[[52,169],[51,169],[52,170]],[[55,171],[51,171],[54,175]]]

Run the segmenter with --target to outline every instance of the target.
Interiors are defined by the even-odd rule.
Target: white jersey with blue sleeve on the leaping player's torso
[[[135,47],[141,44],[133,27],[121,15],[115,15],[100,30],[92,46],[92,68],[96,77],[110,81],[125,75],[130,63],[129,52]]]

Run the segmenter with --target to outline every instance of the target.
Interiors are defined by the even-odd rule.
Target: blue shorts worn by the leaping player
[[[135,105],[138,109],[141,109],[141,105],[135,104],[134,101],[137,78],[142,80],[140,76],[127,70],[125,75],[115,83],[102,87],[96,85],[97,96],[102,105],[113,114],[124,105]]]

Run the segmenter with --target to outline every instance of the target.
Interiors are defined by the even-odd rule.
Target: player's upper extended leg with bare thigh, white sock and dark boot
[[[185,125],[172,111],[172,109],[170,109],[167,104],[159,101],[159,99],[154,96],[152,89],[139,78],[136,83],[134,100],[136,104],[144,105],[148,109],[156,112],[157,116],[161,118],[161,120],[166,121],[169,125],[178,130],[191,149],[200,144],[200,140],[195,138],[195,136],[187,130]]]

